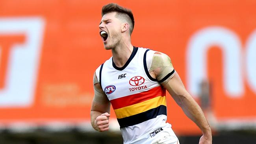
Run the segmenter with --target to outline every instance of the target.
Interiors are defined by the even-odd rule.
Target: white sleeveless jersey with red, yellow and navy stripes
[[[111,57],[96,69],[117,116],[124,144],[150,144],[158,133],[171,128],[166,123],[166,90],[148,72],[154,52],[134,47],[122,68]]]

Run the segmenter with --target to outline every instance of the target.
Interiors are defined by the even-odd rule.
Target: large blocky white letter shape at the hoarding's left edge
[[[39,17],[0,18],[0,35],[25,35],[13,44],[7,61],[6,83],[0,90],[0,107],[28,107],[37,82],[44,20]],[[1,48],[1,47],[0,47]]]

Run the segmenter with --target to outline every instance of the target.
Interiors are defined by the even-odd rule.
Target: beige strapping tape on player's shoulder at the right
[[[174,76],[174,68],[168,55],[155,52],[149,72],[157,70],[156,79],[162,84],[166,84]]]

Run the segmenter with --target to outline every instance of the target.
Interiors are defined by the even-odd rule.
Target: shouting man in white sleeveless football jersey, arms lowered
[[[186,91],[171,59],[131,44],[134,17],[117,4],[102,7],[100,36],[112,57],[96,69],[91,124],[97,131],[109,129],[112,104],[124,144],[179,144],[166,123],[165,89],[184,113],[200,127],[199,144],[211,144],[211,129],[198,104]]]

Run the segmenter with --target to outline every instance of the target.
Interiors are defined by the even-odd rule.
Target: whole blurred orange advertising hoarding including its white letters
[[[109,2],[132,9],[132,44],[168,54],[196,100],[200,82],[210,81],[213,127],[224,120],[256,122],[253,0],[1,0],[2,124],[89,122],[93,73],[111,56],[98,28]],[[200,132],[171,96],[167,107],[174,131]]]

